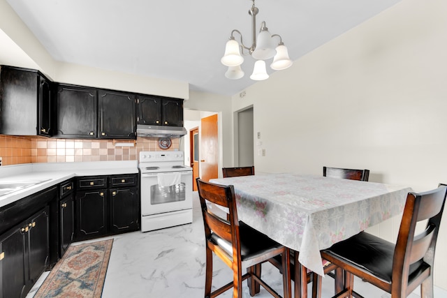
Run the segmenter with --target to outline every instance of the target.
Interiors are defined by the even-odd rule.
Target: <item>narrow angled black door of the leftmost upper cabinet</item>
[[[38,95],[38,134],[51,136],[52,133],[52,86],[42,75],[39,77],[40,89]]]

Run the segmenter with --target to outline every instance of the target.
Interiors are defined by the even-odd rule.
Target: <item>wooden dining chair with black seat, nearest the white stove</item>
[[[242,281],[247,278],[251,296],[262,285],[273,297],[281,297],[261,279],[261,264],[278,255],[284,272],[284,298],[291,297],[289,249],[238,220],[233,186],[220,186],[199,178],[196,181],[205,226],[205,297],[216,297],[233,287],[233,297],[242,298]],[[208,211],[207,201],[228,208],[228,217],[220,218]],[[233,269],[233,281],[213,292],[212,253]],[[244,268],[247,268],[246,274],[242,274]]]

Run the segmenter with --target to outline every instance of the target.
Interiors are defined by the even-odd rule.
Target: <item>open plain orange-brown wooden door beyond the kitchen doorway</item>
[[[200,135],[200,177],[205,181],[218,178],[217,114],[202,118]]]

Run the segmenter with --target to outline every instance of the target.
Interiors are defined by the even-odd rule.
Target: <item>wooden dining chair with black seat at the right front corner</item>
[[[407,297],[420,285],[420,297],[433,297],[433,265],[439,225],[446,202],[446,186],[425,193],[409,193],[396,244],[367,232],[321,251],[325,260],[345,272],[345,287],[335,297],[356,295],[353,276],[391,294]],[[427,221],[425,230],[415,234],[416,224]],[[321,291],[321,277],[317,290]]]

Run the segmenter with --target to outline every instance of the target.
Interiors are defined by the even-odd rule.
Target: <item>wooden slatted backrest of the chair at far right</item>
[[[434,251],[436,248],[439,225],[446,202],[446,186],[440,185],[433,191],[425,193],[409,193],[406,197],[404,214],[400,223],[393,258],[393,292],[400,292],[402,297],[409,295],[420,283],[407,285],[409,271],[421,267],[431,267],[433,274]],[[415,234],[416,224],[427,221],[425,230]],[[429,274],[427,273],[427,276]],[[427,277],[425,276],[425,278]]]

